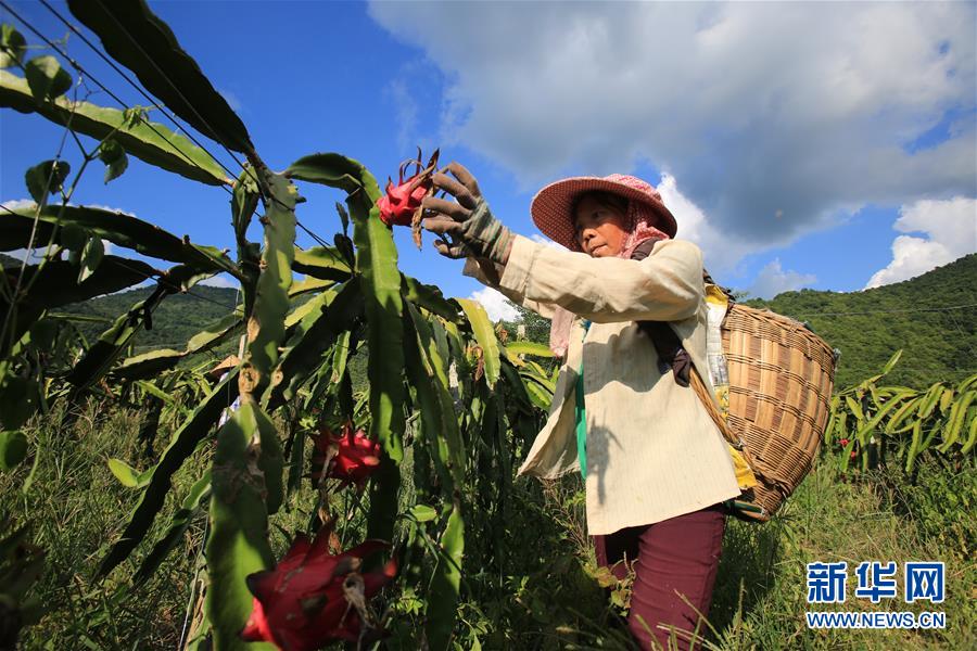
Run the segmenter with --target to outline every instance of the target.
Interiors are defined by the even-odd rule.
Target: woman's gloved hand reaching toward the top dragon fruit
[[[445,170],[455,178],[444,174]],[[423,201],[426,217],[421,225],[432,233],[452,238],[449,242],[434,242],[437,252],[449,258],[471,256],[505,265],[515,235],[492,216],[471,173],[460,164],[452,163],[432,180],[436,188],[456,200],[428,196]]]

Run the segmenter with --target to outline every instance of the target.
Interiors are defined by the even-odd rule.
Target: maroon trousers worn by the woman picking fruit
[[[619,561],[626,557],[629,564],[634,563],[627,627],[642,649],[657,648],[652,639],[669,649],[670,626],[677,629],[678,649],[691,648],[689,635],[682,631],[696,630],[698,613],[709,614],[725,524],[725,509],[715,505],[671,520],[594,537],[597,563],[610,566],[618,578],[626,575],[624,563]],[[699,626],[699,636],[705,629],[705,624]]]

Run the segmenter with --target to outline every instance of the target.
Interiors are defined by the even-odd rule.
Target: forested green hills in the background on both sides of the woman
[[[153,329],[140,332],[138,352],[182,347],[204,326],[226,316],[237,304],[237,291],[196,285],[192,294],[163,301],[153,314]],[[104,323],[83,323],[90,340],[111,319],[145,298],[150,289],[102,296],[60,311],[98,316]],[[745,302],[808,322],[841,350],[836,386],[848,386],[877,372],[896,350],[899,365],[887,383],[928,386],[977,372],[977,254],[968,255],[905,282],[863,292],[786,292],[771,301]],[[535,317],[535,315],[532,315]],[[548,342],[548,322],[528,318],[528,336]],[[513,324],[507,324],[515,335]]]

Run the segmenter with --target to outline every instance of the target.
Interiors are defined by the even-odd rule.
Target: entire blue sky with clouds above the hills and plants
[[[13,5],[49,37],[66,31],[40,4]],[[440,145],[499,218],[536,237],[529,206],[542,186],[635,174],[660,187],[678,235],[723,284],[766,296],[897,282],[977,251],[974,3],[151,7],[272,168],[337,151],[382,182],[416,145]],[[127,103],[145,103],[80,40],[67,47]],[[41,118],[0,112],[0,200],[27,195],[24,170],[60,139]],[[302,191],[300,220],[331,240],[338,195]],[[86,175],[75,200],[231,246],[223,190],[137,159],[107,187]],[[406,272],[449,295],[480,290],[460,263],[396,238]]]

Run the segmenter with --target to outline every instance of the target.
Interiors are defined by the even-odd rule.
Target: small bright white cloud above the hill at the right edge
[[[977,200],[917,201],[903,206],[892,227],[892,261],[876,271],[865,289],[901,282],[977,252]]]

